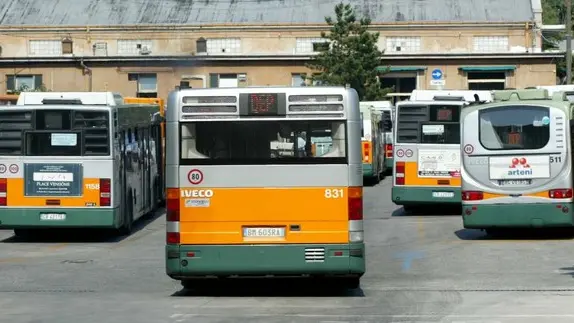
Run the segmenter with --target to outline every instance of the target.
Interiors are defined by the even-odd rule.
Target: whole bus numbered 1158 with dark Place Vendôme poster
[[[130,233],[162,196],[153,113],[111,92],[22,93],[0,111],[0,228]]]

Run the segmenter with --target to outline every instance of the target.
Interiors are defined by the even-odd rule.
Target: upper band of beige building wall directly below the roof
[[[535,43],[532,30],[526,26],[513,27],[396,27],[375,26],[380,32],[379,47],[386,49],[387,37],[419,36],[422,53],[465,53],[473,51],[474,36],[508,36],[508,51],[526,52]],[[0,44],[3,57],[26,57],[29,52],[28,40],[61,40],[69,37],[73,40],[75,56],[92,56],[92,46],[95,43],[107,43],[109,56],[118,53],[118,39],[152,40],[150,55],[194,55],[196,40],[204,38],[240,38],[242,54],[294,54],[297,37],[319,37],[320,30],[303,30],[283,28],[278,31],[234,30],[219,28],[219,30],[180,30],[180,31],[145,31],[138,30],[113,31],[109,29],[59,30],[44,31],[42,29],[20,32],[14,29],[0,28]],[[529,51],[533,51],[532,48]]]

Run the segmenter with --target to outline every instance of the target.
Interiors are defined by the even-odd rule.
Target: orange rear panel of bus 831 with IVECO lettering
[[[205,197],[207,191],[213,195]],[[362,191],[347,187],[181,188],[181,243],[348,243],[349,194],[357,196]],[[192,206],[193,200],[209,202]],[[243,238],[244,227],[269,226],[284,227],[285,238]]]

